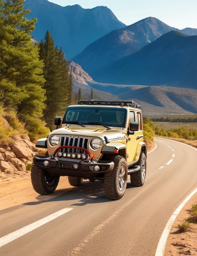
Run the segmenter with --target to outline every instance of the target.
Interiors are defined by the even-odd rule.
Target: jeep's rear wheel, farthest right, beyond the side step
[[[143,186],[146,178],[146,156],[141,153],[137,165],[140,166],[140,171],[130,174],[130,180],[132,186]]]

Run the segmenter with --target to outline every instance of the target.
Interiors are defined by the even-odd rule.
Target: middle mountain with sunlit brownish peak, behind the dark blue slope
[[[92,75],[99,67],[139,51],[169,31],[178,30],[157,18],[145,18],[128,27],[118,29],[88,45],[72,60]],[[185,34],[196,33],[197,29],[184,29]]]

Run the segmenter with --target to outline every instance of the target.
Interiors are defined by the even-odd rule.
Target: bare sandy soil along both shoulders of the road
[[[71,188],[72,186],[69,185],[67,177],[60,177],[56,190]],[[51,194],[50,199],[52,196]],[[27,174],[26,177],[0,182],[0,210],[39,200],[40,196],[38,196],[38,193],[34,191],[31,185],[30,174]],[[197,193],[187,202],[177,216],[168,236],[165,256],[197,255],[197,224],[190,224],[190,229],[184,233],[178,232],[178,224],[181,224],[186,218],[190,217],[190,209],[196,203]]]

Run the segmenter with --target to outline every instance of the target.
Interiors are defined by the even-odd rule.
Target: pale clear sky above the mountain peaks
[[[197,28],[197,0],[48,0],[61,6],[79,4],[84,9],[107,6],[125,25],[147,17],[158,18],[177,29]]]

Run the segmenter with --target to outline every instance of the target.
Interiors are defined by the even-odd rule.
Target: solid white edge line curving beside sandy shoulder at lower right
[[[168,239],[168,235],[170,234],[170,230],[172,228],[172,225],[177,218],[177,215],[181,211],[181,209],[185,206],[185,204],[190,200],[190,198],[197,193],[197,188],[188,195],[188,197],[179,205],[179,207],[174,211],[170,219],[168,220],[168,223],[166,224],[165,229],[163,230],[163,233],[161,235],[161,238],[159,240],[159,243],[157,245],[157,251],[155,253],[155,256],[164,256],[165,247]]]

